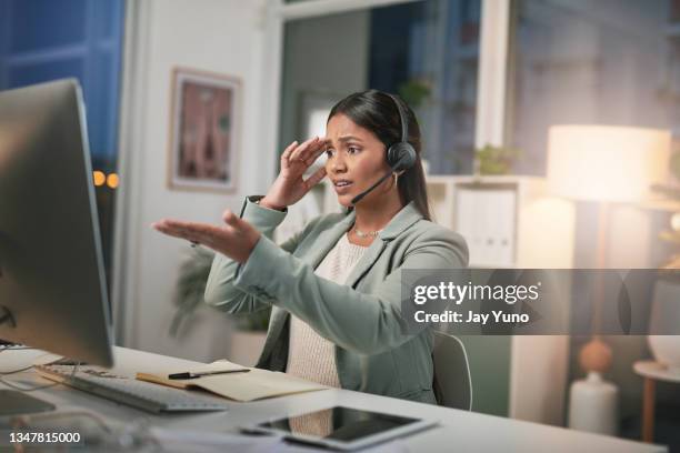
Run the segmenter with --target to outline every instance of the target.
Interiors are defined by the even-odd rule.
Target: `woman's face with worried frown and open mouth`
[[[351,207],[354,197],[390,171],[384,144],[371,131],[342,113],[330,119],[326,125],[326,138],[329,140],[326,172],[340,204]],[[391,179],[388,178],[381,185],[384,184],[392,184]],[[378,187],[362,202],[371,204],[371,200],[377,201],[381,193],[384,193],[384,189]]]

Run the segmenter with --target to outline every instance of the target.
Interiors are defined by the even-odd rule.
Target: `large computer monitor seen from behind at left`
[[[0,92],[0,339],[113,364],[82,91]]]

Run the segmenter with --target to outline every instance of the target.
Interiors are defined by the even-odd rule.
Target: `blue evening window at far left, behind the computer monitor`
[[[0,0],[0,90],[63,78],[83,89],[107,278],[113,240],[123,0]],[[109,175],[109,178],[107,178]],[[103,180],[101,180],[103,178]],[[110,281],[110,279],[109,279]]]

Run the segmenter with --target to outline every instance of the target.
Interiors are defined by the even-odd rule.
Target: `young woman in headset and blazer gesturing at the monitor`
[[[304,180],[322,153],[326,165]],[[346,212],[321,215],[274,244],[286,208],[326,177]],[[217,252],[210,305],[230,313],[273,308],[257,366],[436,403],[432,333],[426,325],[406,332],[400,275],[466,266],[468,250],[459,234],[430,221],[420,129],[403,101],[377,90],[341,100],[327,137],[291,143],[267,195],[248,198],[240,215],[227,211],[223,220],[222,226],[163,220],[154,228]]]

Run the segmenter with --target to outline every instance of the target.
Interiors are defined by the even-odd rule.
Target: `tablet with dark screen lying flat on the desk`
[[[437,424],[433,420],[334,406],[253,426],[246,432],[269,433],[337,450],[357,450]]]

